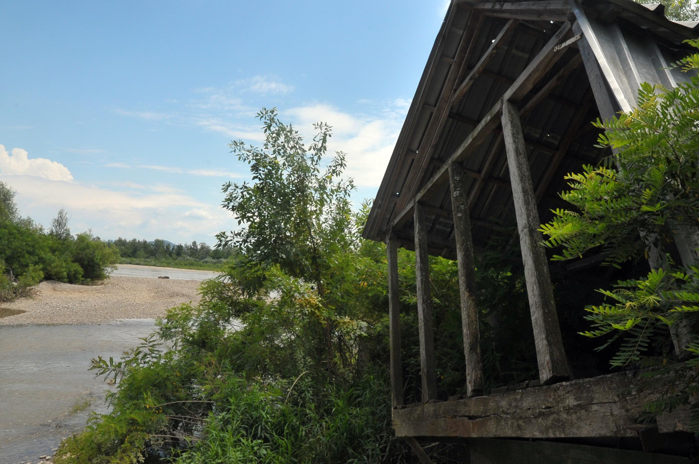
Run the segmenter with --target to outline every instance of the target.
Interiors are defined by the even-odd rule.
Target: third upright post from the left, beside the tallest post
[[[476,268],[466,195],[466,174],[461,163],[449,165],[449,186],[452,190],[456,265],[459,268],[463,354],[466,355],[466,396],[480,396],[483,394],[483,364],[480,354],[478,306],[475,299]]]

